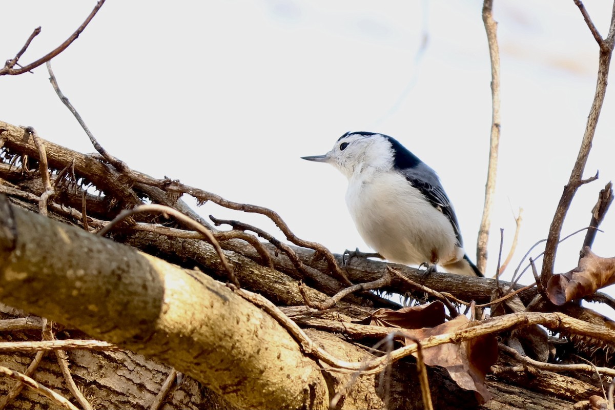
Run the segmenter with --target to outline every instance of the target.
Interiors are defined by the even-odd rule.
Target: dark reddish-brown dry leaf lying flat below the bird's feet
[[[444,304],[435,301],[429,304],[402,307],[399,310],[378,309],[370,316],[355,323],[387,328],[418,329],[440,325],[444,323],[444,319]]]

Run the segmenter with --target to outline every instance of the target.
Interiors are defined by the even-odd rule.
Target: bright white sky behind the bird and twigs
[[[495,3],[502,139],[489,276],[499,228],[506,254],[519,207],[522,231],[507,275],[546,238],[581,143],[598,60],[573,1]],[[41,57],[81,25],[94,4],[2,4],[0,57],[14,57],[39,25],[42,33],[21,62]],[[585,6],[606,36],[612,2]],[[346,180],[333,167],[300,157],[324,154],[349,130],[394,136],[438,171],[475,259],[491,125],[481,9],[478,0],[109,0],[52,65],[98,141],[130,167],[272,208],[296,235],[336,253],[367,250],[346,210]],[[0,78],[0,119],[93,152],[47,78],[44,66]],[[598,191],[615,178],[612,88],[585,170],[585,177],[600,170],[600,179],[579,189],[564,235],[589,224]],[[283,239],[260,216],[215,205],[199,211],[253,223]],[[613,212],[593,246],[601,256],[615,254]],[[560,245],[556,271],[576,266],[583,237]],[[522,283],[531,280],[528,272]]]

